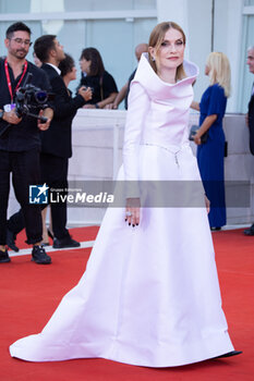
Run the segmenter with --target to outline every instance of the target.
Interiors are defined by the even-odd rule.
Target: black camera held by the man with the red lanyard
[[[19,118],[29,115],[36,118],[40,123],[46,123],[47,118],[39,116],[32,111],[44,110],[48,107],[47,101],[52,99],[52,94],[49,94],[39,87],[31,84],[33,74],[28,73],[26,81],[16,91],[15,112]]]

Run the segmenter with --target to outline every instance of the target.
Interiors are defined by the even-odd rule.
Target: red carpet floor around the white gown
[[[92,241],[97,228],[72,231],[73,238]],[[254,237],[241,230],[213,233],[223,308],[237,349],[243,354],[179,367],[150,369],[104,359],[33,364],[13,359],[8,346],[39,332],[61,297],[80,280],[90,249],[52,253],[51,266],[37,266],[29,256],[0,266],[1,381],[245,381],[254,379]],[[24,236],[19,238],[19,245]],[[24,247],[24,246],[23,246]]]

